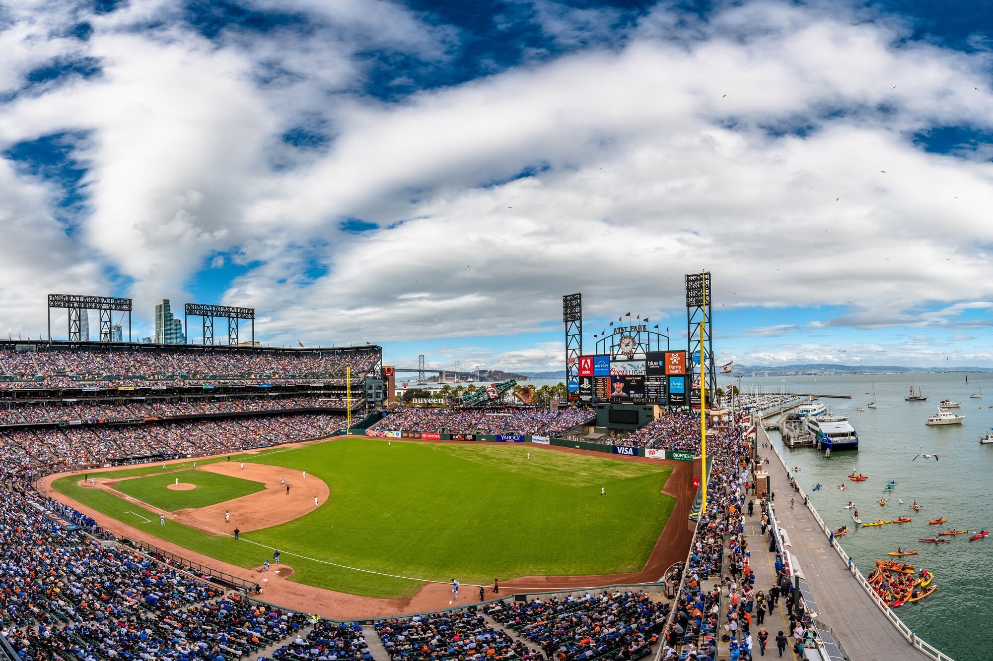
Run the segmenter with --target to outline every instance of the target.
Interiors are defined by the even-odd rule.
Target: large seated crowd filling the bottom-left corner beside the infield
[[[306,621],[67,530],[33,494],[0,496],[0,626],[24,661],[227,661]]]

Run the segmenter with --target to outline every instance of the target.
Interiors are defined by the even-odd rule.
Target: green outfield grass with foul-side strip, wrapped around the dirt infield
[[[165,528],[157,520],[135,527],[242,567],[257,567],[278,548],[295,570],[293,581],[389,597],[412,595],[420,583],[319,561],[464,583],[632,572],[644,566],[675,504],[660,492],[670,466],[524,444],[347,439],[247,457],[307,470],[308,479],[328,483],[331,498],[299,519],[244,533],[237,543],[172,521]],[[128,523],[136,516],[157,519],[127,514],[137,508],[77,487],[74,478],[55,487]]]

